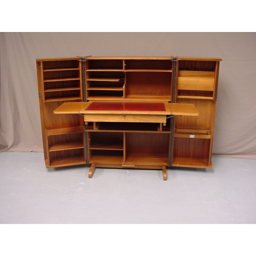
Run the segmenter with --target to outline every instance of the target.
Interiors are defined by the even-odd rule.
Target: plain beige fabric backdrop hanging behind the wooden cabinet
[[[36,58],[220,57],[213,156],[256,159],[256,33],[0,33],[0,151],[43,152]]]

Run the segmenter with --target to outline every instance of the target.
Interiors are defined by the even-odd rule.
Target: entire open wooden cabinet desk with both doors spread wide
[[[36,59],[46,168],[212,168],[220,61]]]

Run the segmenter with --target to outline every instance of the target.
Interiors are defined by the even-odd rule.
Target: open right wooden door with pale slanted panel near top
[[[219,58],[177,58],[175,103],[194,104],[198,116],[175,116],[172,166],[212,168]]]

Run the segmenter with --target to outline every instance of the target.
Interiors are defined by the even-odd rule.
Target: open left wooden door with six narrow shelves
[[[54,115],[64,102],[82,102],[81,58],[36,59],[46,168],[86,164],[84,120],[80,115]]]

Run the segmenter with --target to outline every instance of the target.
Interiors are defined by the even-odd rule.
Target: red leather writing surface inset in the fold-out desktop
[[[164,102],[92,102],[86,110],[165,111]]]

